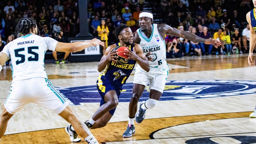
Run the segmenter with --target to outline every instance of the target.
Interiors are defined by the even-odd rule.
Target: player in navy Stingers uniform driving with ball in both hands
[[[132,70],[138,62],[141,68],[149,71],[149,64],[147,57],[143,54],[142,48],[139,44],[132,42],[132,30],[126,24],[118,26],[115,30],[115,36],[119,43],[108,46],[105,54],[98,64],[98,71],[101,74],[97,80],[97,89],[101,96],[100,108],[94,113],[92,118],[85,122],[85,124],[92,129],[104,127],[110,118],[114,115],[118,99],[123,85],[127,78],[132,73]],[[125,65],[115,64],[117,52],[112,51],[116,46],[125,46],[129,48],[127,59],[129,62]]]

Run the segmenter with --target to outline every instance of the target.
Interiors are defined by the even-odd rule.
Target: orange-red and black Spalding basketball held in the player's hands
[[[127,55],[124,55],[125,49],[128,51],[128,48],[125,46],[117,46],[113,49],[113,51],[118,52],[118,54],[114,55],[114,56],[118,56],[118,58],[114,58],[115,60],[117,60],[116,64],[125,65],[129,62],[129,60],[125,61],[125,59],[128,58]]]

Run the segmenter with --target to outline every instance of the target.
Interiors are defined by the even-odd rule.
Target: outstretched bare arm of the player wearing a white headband
[[[216,39],[213,39],[213,38],[204,39],[188,31],[172,28],[166,24],[159,24],[158,27],[159,27],[158,30],[160,33],[164,32],[164,34],[171,35],[171,36],[179,36],[190,41],[196,41],[204,44],[212,44],[216,48],[218,48],[218,46],[221,45],[220,41],[217,41]]]

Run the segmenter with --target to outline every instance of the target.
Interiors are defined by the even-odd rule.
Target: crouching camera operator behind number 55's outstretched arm
[[[60,30],[59,32],[56,32],[54,34],[54,39],[57,40],[58,42],[62,42],[62,43],[67,43],[68,42],[68,38],[66,36],[63,36],[63,31],[62,30]],[[59,64],[60,62],[61,63],[66,63],[67,58],[69,56],[69,53],[70,52],[65,52],[65,55],[64,55],[63,59],[61,61],[59,61],[58,57],[57,57],[57,52],[53,51],[52,55],[53,55],[53,58],[55,59],[55,64]]]

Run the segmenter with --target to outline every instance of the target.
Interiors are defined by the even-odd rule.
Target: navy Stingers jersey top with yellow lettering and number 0
[[[133,51],[133,45],[130,45],[129,49]],[[120,43],[116,43],[116,46],[120,46]],[[127,78],[132,73],[133,68],[135,67],[136,60],[130,59],[129,62],[125,65],[117,65],[114,61],[109,61],[106,68],[98,77],[98,86],[102,87],[102,79],[108,79],[114,85],[122,87],[125,84]]]

